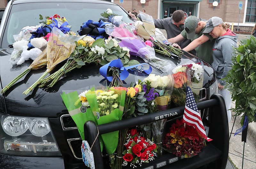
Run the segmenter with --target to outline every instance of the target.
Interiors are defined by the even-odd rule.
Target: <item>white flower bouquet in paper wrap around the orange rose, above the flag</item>
[[[192,62],[190,64],[183,64],[180,66],[177,66],[172,71],[173,73],[177,72],[187,72],[189,71],[190,77],[191,77],[191,83],[192,83],[192,91],[199,95],[200,89],[203,87],[203,74],[204,74],[204,67],[203,62]]]

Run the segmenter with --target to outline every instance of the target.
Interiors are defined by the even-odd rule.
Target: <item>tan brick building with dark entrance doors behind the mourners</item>
[[[146,10],[146,13],[153,18],[167,18],[175,10],[183,10],[188,15],[198,18],[209,19],[218,16],[230,25],[238,25],[239,2],[242,2],[240,10],[239,26],[252,27],[256,22],[256,0],[146,0],[144,7],[140,0],[111,0],[129,11],[135,8],[137,12]],[[218,6],[213,7],[212,3],[218,2]]]

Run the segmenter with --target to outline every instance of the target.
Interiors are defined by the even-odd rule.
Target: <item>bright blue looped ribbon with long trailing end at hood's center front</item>
[[[112,60],[111,62],[109,62],[108,64],[100,67],[100,74],[107,79],[108,81],[112,81],[113,80],[113,76],[107,76],[107,72],[108,72],[108,67],[117,67],[121,70],[120,73],[120,79],[123,81],[124,79],[126,79],[129,75],[129,72],[127,71],[128,69],[132,69],[134,67],[139,67],[141,66],[140,71],[144,71],[147,74],[150,74],[152,72],[152,67],[149,66],[149,68],[147,70],[143,70],[143,66],[142,65],[148,65],[147,63],[141,63],[141,64],[137,64],[137,65],[132,65],[129,67],[124,67],[123,63],[121,62],[120,59],[116,59],[116,60]]]

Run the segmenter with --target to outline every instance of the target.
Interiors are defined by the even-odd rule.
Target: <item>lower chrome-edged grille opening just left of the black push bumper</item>
[[[67,139],[68,145],[76,159],[82,159],[82,138],[71,138]]]

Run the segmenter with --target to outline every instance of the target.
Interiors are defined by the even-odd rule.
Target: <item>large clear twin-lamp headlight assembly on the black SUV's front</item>
[[[61,155],[47,118],[1,116],[0,152],[15,155]],[[6,134],[5,134],[6,133]]]

